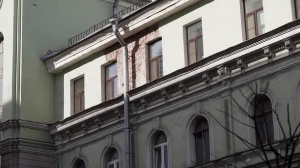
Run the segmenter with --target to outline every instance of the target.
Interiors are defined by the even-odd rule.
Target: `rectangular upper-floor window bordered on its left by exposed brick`
[[[149,76],[150,81],[163,76],[161,40],[149,45]]]

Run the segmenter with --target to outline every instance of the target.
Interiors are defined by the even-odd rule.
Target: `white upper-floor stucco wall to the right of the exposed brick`
[[[266,32],[293,21],[292,3],[263,0]],[[199,1],[160,23],[165,75],[188,64],[186,27],[198,20],[202,20],[204,57],[245,40],[243,0]]]

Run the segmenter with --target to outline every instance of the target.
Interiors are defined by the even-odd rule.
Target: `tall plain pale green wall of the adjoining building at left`
[[[67,47],[68,38],[112,16],[102,0],[24,0],[20,118],[55,121],[55,77],[39,56]],[[57,83],[57,82],[56,82]]]

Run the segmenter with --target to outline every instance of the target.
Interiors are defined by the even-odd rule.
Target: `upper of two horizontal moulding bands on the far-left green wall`
[[[34,130],[42,130],[42,131],[49,131],[50,127],[48,124],[38,123],[33,121],[26,121],[26,120],[7,120],[0,124],[0,130],[4,131],[9,128],[14,127],[23,127],[23,128],[30,128]]]

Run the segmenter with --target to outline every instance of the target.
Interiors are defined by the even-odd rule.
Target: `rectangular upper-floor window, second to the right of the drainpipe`
[[[192,64],[203,57],[202,22],[187,27],[188,64]]]

